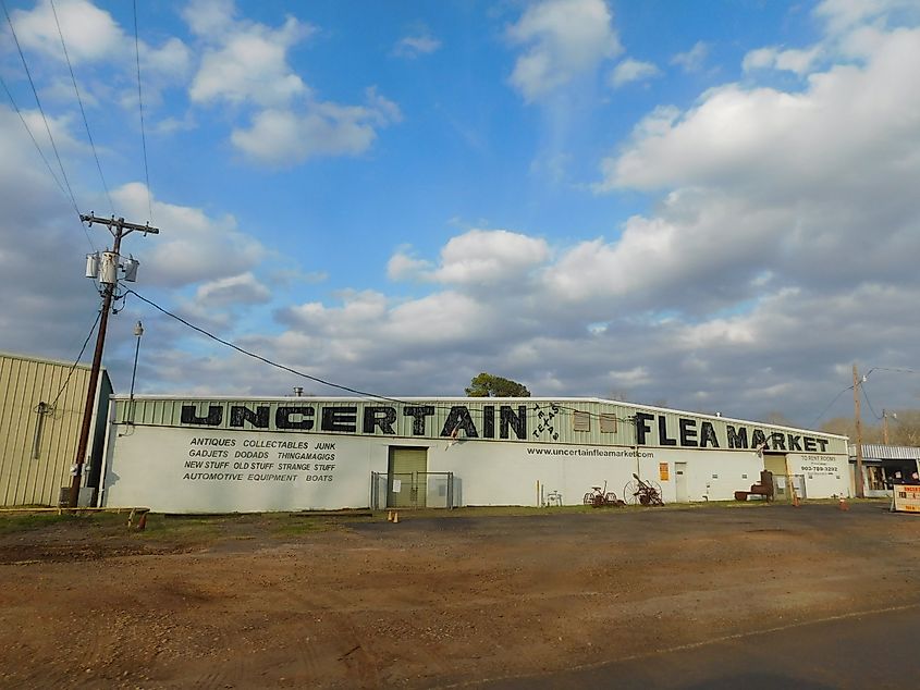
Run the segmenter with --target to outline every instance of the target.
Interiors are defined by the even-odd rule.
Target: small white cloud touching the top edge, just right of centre
[[[603,0],[542,0],[530,4],[507,35],[513,44],[526,47],[511,83],[527,101],[568,84],[623,50]]]

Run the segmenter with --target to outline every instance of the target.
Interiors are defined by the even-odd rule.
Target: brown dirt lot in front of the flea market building
[[[918,602],[886,507],[0,516],[0,687],[475,686]]]

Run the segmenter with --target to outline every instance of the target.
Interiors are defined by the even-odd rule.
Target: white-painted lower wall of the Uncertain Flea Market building
[[[763,468],[752,451],[643,447],[637,458],[634,448],[618,446],[165,427],[113,426],[111,430],[105,505],[145,506],[168,513],[367,506],[371,472],[387,471],[391,445],[428,447],[429,471],[453,472],[456,498],[463,505],[536,505],[538,481],[547,493],[562,493],[566,505],[580,504],[591,486],[604,486],[604,482],[606,491],[622,498],[633,472],[660,484],[665,503],[672,503],[676,500],[675,463],[687,464],[690,501],[728,501],[735,491],[756,483]],[[194,443],[200,439],[226,445]],[[278,447],[284,444],[305,447]],[[323,444],[333,444],[334,448],[319,449]],[[272,445],[275,447],[266,447]],[[199,449],[221,453],[219,457],[203,457],[196,455]],[[245,457],[252,453],[267,457]],[[280,453],[321,454],[326,459],[284,459]],[[255,468],[254,463],[270,467]],[[310,468],[285,470],[281,463],[309,464]],[[666,464],[666,479],[662,464]],[[317,469],[317,465],[329,467]],[[845,456],[789,454],[789,467],[806,477],[808,497],[848,493]],[[258,476],[287,476],[291,480],[268,481]],[[331,480],[318,481],[317,477]]]

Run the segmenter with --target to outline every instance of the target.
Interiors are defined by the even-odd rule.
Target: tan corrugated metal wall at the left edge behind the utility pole
[[[0,354],[0,505],[57,505],[70,484],[89,370],[75,368],[54,403],[69,371],[69,365]],[[41,402],[54,405],[42,416],[36,446]]]

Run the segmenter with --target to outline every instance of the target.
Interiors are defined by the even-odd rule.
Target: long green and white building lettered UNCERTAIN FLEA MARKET
[[[571,505],[636,477],[721,501],[764,468],[778,497],[849,492],[844,436],[594,398],[112,399],[111,507]]]

